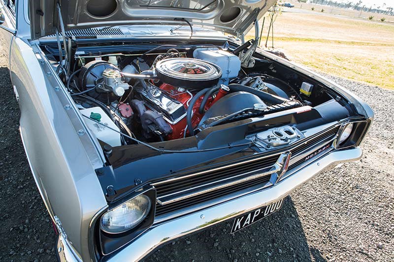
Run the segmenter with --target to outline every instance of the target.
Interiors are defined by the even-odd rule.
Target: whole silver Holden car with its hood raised
[[[0,1],[60,261],[138,261],[223,221],[237,232],[361,158],[370,107],[258,47],[273,3]]]

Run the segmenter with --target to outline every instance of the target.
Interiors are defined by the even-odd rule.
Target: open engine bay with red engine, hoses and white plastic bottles
[[[79,52],[64,82],[89,128],[109,146],[183,139],[335,97],[271,60],[252,58],[244,67],[242,52],[214,45]]]

